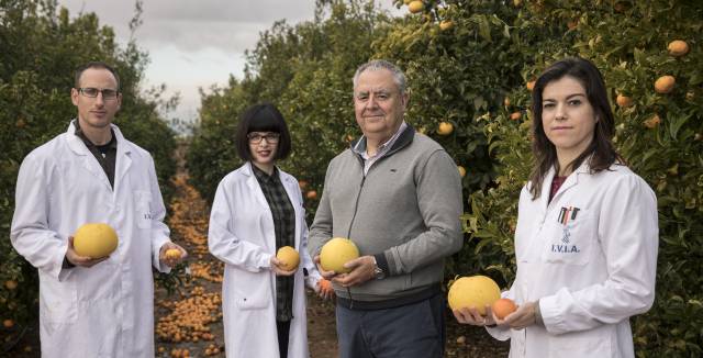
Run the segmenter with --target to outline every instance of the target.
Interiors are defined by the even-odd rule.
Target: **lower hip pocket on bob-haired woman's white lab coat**
[[[271,304],[269,271],[239,270],[234,282],[234,300],[239,310],[263,310]]]

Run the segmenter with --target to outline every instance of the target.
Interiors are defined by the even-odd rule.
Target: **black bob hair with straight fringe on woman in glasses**
[[[252,132],[275,132],[281,135],[278,139],[275,159],[286,159],[290,154],[290,132],[283,115],[276,105],[271,103],[254,104],[242,113],[235,143],[237,154],[243,160],[252,160],[249,139],[247,138],[247,134]]]

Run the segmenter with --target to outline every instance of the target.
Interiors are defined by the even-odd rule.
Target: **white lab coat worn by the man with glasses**
[[[20,168],[12,245],[40,273],[43,357],[154,357],[154,282],[168,242],[150,155],[116,126],[114,190],[98,160],[68,131],[30,153]],[[110,258],[62,268],[68,236],[102,222],[119,237]]]

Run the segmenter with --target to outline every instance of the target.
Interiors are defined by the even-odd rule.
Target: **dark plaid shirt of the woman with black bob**
[[[264,197],[274,215],[276,251],[283,246],[295,247],[295,211],[281,183],[278,168],[269,176],[252,164],[254,176],[264,191]],[[276,321],[288,322],[293,317],[294,276],[276,277]]]

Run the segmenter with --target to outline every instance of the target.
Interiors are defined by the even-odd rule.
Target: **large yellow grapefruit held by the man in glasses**
[[[118,233],[108,224],[85,224],[74,234],[74,248],[80,256],[105,257],[118,248]]]

